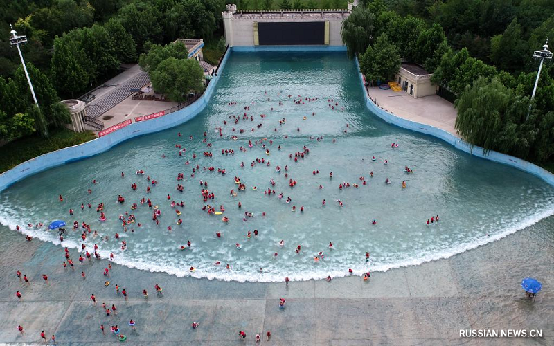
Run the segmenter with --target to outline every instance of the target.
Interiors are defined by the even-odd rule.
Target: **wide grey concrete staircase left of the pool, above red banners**
[[[127,80],[125,83],[117,86],[114,91],[107,93],[107,95],[102,95],[98,100],[93,100],[85,109],[87,110],[87,116],[90,118],[96,119],[102,114],[106,113],[113,107],[115,107],[119,102],[125,100],[125,98],[131,95],[131,89],[141,89],[141,87],[150,83],[150,78],[145,71],[135,75],[130,80]]]

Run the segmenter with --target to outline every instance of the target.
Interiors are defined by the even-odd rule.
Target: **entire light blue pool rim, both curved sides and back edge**
[[[111,147],[114,147],[115,145],[123,143],[125,142],[125,140],[129,140],[131,138],[135,138],[138,136],[143,136],[145,134],[152,134],[154,132],[163,131],[165,129],[170,129],[171,127],[181,125],[184,122],[187,122],[188,120],[194,118],[202,110],[204,110],[204,108],[206,108],[206,105],[211,100],[211,96],[213,95],[215,86],[217,85],[217,82],[219,81],[221,74],[224,73],[224,67],[226,65],[226,62],[227,60],[229,60],[229,55],[232,54],[233,51],[237,51],[237,52],[345,51],[346,52],[346,47],[333,47],[332,49],[330,49],[328,46],[310,46],[310,47],[308,46],[306,47],[304,46],[265,46],[262,48],[255,47],[255,46],[231,47],[229,51],[224,55],[220,63],[219,74],[215,75],[215,77],[211,80],[210,84],[206,88],[206,91],[204,91],[204,94],[198,100],[193,102],[193,104],[190,104],[188,107],[185,107],[184,109],[181,109],[174,113],[170,113],[166,116],[163,116],[160,118],[154,118],[152,120],[143,121],[143,122],[133,122],[131,125],[127,127],[123,127],[122,129],[118,129],[117,131],[114,131],[107,136],[102,136],[100,138],[96,138],[86,143],[74,145],[73,147],[66,147],[64,149],[59,149],[59,150],[56,150],[55,152],[49,152],[41,156],[31,158],[30,160],[25,161],[24,163],[20,163],[19,165],[13,167],[11,170],[8,170],[0,174],[0,192],[2,192],[3,190],[6,190],[6,188],[10,187],[10,185],[17,183],[17,181],[21,181],[27,178],[28,176],[42,172],[51,167],[64,165],[66,163],[71,163],[73,161],[80,161],[80,160],[83,160],[84,158],[95,156],[95,155],[101,154],[102,152],[107,152],[107,150],[111,149]],[[355,62],[356,62],[357,69],[359,71],[359,61],[357,57],[355,57]],[[392,113],[389,113],[385,109],[378,107],[377,104],[373,103],[373,101],[370,100],[370,98],[366,93],[363,75],[361,75],[361,73],[358,73],[358,74],[359,74],[360,87],[365,95],[366,107],[370,110],[371,113],[381,118],[385,122],[388,122],[389,124],[392,124],[392,125],[396,125],[397,127],[402,127],[403,129],[409,129],[411,131],[416,131],[421,134],[427,134],[429,136],[439,138],[449,143],[450,145],[456,147],[456,149],[461,150],[462,152],[466,152],[467,154],[470,154],[472,156],[484,158],[486,160],[490,160],[496,163],[503,163],[504,165],[515,167],[518,170],[522,170],[524,172],[533,174],[534,176],[537,176],[543,181],[545,181],[546,183],[554,186],[554,174],[552,174],[551,172],[548,172],[547,170],[544,170],[542,167],[539,167],[533,163],[522,160],[520,158],[516,158],[515,156],[501,154],[499,152],[490,151],[487,153],[483,153],[483,148],[473,146],[470,143],[465,142],[465,140],[462,140],[461,138],[457,138],[456,136],[449,134],[447,131],[443,129],[438,129],[437,127],[433,127],[431,125],[425,125],[419,122],[414,122],[411,120],[400,118],[398,116],[395,116]]]

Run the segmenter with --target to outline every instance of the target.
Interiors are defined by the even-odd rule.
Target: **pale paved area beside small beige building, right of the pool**
[[[394,113],[395,116],[438,127],[460,137],[454,128],[457,115],[454,104],[438,95],[413,98],[405,91],[395,92],[378,87],[368,88],[368,91],[379,106]]]

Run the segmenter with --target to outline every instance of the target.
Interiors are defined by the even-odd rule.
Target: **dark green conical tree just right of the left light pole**
[[[89,84],[89,74],[79,64],[68,44],[60,38],[54,40],[50,73],[54,86],[63,95],[73,97]]]

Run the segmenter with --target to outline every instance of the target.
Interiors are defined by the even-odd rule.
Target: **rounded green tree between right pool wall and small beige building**
[[[400,69],[400,54],[395,44],[388,40],[386,34],[377,37],[375,44],[361,55],[360,70],[366,80],[386,81],[394,77]]]

